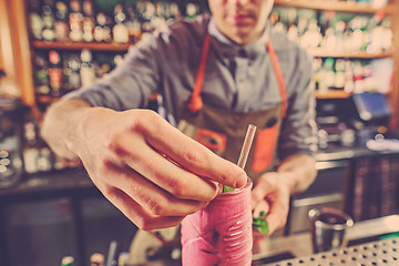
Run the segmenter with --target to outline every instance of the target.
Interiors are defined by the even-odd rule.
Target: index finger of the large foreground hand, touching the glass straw
[[[143,133],[152,146],[190,172],[231,187],[243,187],[246,184],[247,175],[241,167],[214,154],[165,120],[157,120],[157,123],[145,127]]]

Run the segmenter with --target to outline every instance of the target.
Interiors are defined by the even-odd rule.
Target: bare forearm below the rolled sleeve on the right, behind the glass
[[[307,154],[295,154],[283,161],[277,173],[289,184],[290,194],[299,193],[315,181],[316,161]]]

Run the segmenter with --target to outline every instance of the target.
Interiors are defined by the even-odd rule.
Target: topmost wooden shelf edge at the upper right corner
[[[317,10],[334,10],[342,12],[357,13],[375,13],[383,12],[388,14],[396,14],[397,6],[388,3],[381,9],[372,8],[368,3],[346,2],[335,0],[275,0],[275,6],[291,7],[291,8],[308,8]]]

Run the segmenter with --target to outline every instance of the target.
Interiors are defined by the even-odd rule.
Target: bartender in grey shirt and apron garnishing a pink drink
[[[42,136],[143,231],[178,225],[249,176],[272,234],[316,176],[311,59],[268,24],[273,0],[208,0],[209,14],[143,38],[123,63],[49,108]],[[145,110],[163,99],[167,121]],[[245,171],[237,162],[257,126]]]

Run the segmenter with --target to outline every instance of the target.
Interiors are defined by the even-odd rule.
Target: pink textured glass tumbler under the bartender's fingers
[[[183,266],[250,266],[252,186],[248,180],[243,188],[221,193],[183,219]]]

